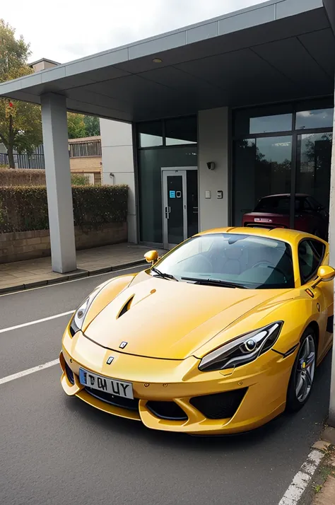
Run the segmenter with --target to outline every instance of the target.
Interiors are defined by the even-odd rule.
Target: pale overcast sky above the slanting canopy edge
[[[30,62],[64,63],[260,4],[261,0],[11,0],[0,17],[30,42]]]

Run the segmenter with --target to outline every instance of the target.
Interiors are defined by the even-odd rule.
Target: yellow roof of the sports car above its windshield
[[[289,230],[288,228],[251,228],[230,226],[227,228],[213,228],[211,230],[202,231],[198,235],[207,235],[210,233],[240,233],[242,235],[258,236],[264,238],[273,238],[274,240],[282,240],[290,244],[298,243],[302,238],[314,238],[324,243],[324,240],[298,230]]]

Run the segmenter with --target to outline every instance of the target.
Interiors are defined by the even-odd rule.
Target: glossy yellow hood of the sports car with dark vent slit
[[[85,335],[118,352],[184,359],[250,313],[256,311],[260,322],[261,313],[283,303],[288,291],[201,286],[141,272],[93,319]],[[122,342],[127,342],[124,349]]]

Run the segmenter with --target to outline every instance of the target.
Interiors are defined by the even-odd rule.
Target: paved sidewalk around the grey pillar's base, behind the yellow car
[[[78,269],[69,274],[52,272],[50,257],[4,263],[0,265],[0,294],[144,264],[148,249],[146,245],[122,243],[77,251]],[[163,250],[158,252],[162,254]]]

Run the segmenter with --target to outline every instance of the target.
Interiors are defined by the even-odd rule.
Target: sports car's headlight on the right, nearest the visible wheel
[[[225,370],[254,361],[260,354],[271,349],[278,339],[282,326],[283,321],[276,321],[276,323],[235,338],[204,356],[199,364],[199,370]]]

